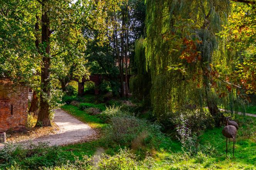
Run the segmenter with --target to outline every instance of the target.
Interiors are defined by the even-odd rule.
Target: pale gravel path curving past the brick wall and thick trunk
[[[32,143],[49,142],[50,146],[53,145],[67,145],[71,143],[80,142],[92,135],[96,134],[89,125],[77,120],[63,110],[55,110],[54,122],[59,126],[60,132],[54,135],[49,135],[43,138],[32,140]],[[28,143],[24,141],[19,143]],[[2,148],[3,145],[0,148]]]

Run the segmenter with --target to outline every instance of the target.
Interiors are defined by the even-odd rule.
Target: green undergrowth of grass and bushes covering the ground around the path
[[[0,151],[0,169],[256,169],[256,118],[234,116],[239,130],[232,158],[232,144],[226,157],[222,127],[211,127],[211,123],[202,127],[201,112],[193,113],[194,119],[184,112],[175,120],[176,133],[163,133],[168,131],[152,121],[152,113],[143,111],[141,103],[110,100],[102,104],[92,102],[95,99],[93,95],[76,98],[78,103],[62,109],[97,128],[101,133],[97,140],[63,147],[26,146],[32,149],[7,144]],[[88,113],[88,107],[79,107],[81,103],[101,112]]]

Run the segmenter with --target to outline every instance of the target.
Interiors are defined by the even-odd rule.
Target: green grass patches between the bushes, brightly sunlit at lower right
[[[83,110],[73,105],[64,105],[62,109],[78,118],[82,122],[88,123],[91,127],[102,129],[108,124],[104,123],[99,117],[89,115]],[[157,148],[150,148],[146,145],[132,150],[137,155],[138,160],[143,160],[146,155],[154,160],[154,170],[166,169],[256,169],[256,118],[236,116],[239,123],[237,142],[235,148],[235,157],[232,158],[232,143],[228,144],[228,155],[226,157],[226,139],[222,135],[222,127],[208,129],[198,138],[198,153],[186,153],[182,150],[181,143],[177,140],[171,140],[168,137],[161,138]],[[254,131],[252,133],[248,133]],[[249,135],[248,135],[249,134]],[[102,134],[104,135],[104,134]],[[77,143],[59,147],[60,151],[52,152],[52,157],[61,157],[64,162],[75,160],[75,157],[82,159],[84,155],[89,157],[106,153],[116,155],[120,148],[130,147],[128,145],[119,145],[118,143],[106,145],[104,137],[94,141]],[[145,152],[146,151],[146,152]],[[48,154],[49,155],[49,154]],[[44,155],[35,155],[27,160],[21,160],[20,165],[41,162],[51,162],[52,157]],[[36,163],[36,162],[35,162]],[[45,165],[47,167],[47,165]],[[1,168],[0,168],[1,169]]]

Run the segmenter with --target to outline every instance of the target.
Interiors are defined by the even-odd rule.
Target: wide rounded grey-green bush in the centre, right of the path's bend
[[[138,144],[156,147],[156,144],[163,137],[159,125],[138,119],[134,116],[123,115],[112,117],[110,122],[110,125],[105,129],[106,141],[109,144],[116,142],[128,146]]]

